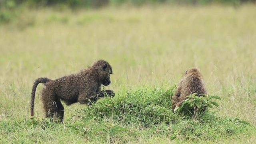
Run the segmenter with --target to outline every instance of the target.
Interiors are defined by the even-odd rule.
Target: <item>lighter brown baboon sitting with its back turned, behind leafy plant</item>
[[[202,74],[198,68],[188,69],[180,80],[175,95],[172,96],[172,110],[174,110],[176,106],[181,106],[187,99],[185,97],[189,96],[191,93],[197,93],[198,95],[207,94]]]

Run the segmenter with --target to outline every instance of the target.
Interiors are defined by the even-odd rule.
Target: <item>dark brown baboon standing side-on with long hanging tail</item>
[[[43,103],[46,118],[53,121],[55,114],[55,120],[59,119],[60,122],[63,122],[64,107],[60,100],[69,106],[76,102],[91,104],[106,95],[114,96],[112,90],[100,91],[101,84],[108,86],[111,83],[110,74],[113,74],[110,64],[105,60],[98,60],[77,74],[63,76],[55,80],[37,78],[31,93],[31,116],[34,116],[35,92],[39,83],[44,84],[40,100]]]

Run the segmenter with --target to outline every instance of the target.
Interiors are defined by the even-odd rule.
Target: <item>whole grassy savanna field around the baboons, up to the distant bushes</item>
[[[256,142],[255,4],[21,12],[0,25],[1,144]],[[55,124],[44,118],[39,84],[30,120],[36,78],[60,78],[98,59],[113,68],[104,89],[114,97],[64,104],[64,123]],[[191,67],[200,68],[208,94],[222,98],[198,119],[170,108]]]

